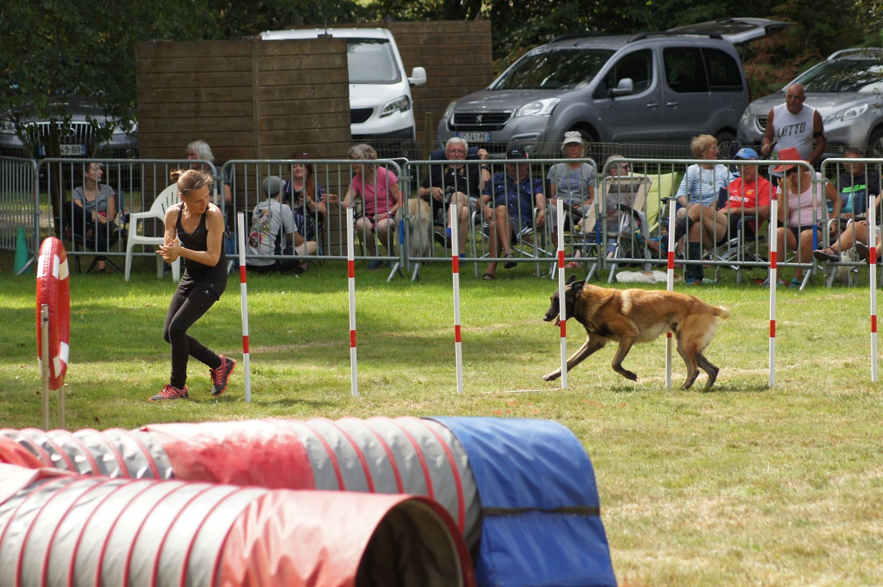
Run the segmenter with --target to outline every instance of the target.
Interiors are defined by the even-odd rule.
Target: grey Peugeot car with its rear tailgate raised
[[[492,153],[517,142],[534,156],[557,156],[568,131],[590,142],[735,139],[750,98],[733,42],[782,26],[721,19],[661,33],[566,34],[451,102],[438,139],[459,136]]]

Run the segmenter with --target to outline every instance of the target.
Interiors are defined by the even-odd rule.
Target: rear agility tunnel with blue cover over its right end
[[[592,464],[555,422],[319,418],[0,430],[0,460],[11,452],[4,444],[84,475],[426,496],[454,520],[481,585],[615,585]]]

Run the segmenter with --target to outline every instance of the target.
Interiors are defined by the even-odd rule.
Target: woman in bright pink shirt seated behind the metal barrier
[[[350,159],[361,161],[373,161],[377,159],[377,152],[369,145],[353,145],[350,147]],[[398,177],[396,174],[374,164],[353,163],[350,187],[343,197],[341,205],[350,207],[353,199],[362,200],[362,214],[356,218],[356,230],[362,237],[362,242],[368,248],[368,254],[372,257],[377,255],[377,245],[374,244],[374,233],[380,238],[381,243],[389,256],[393,256],[394,241],[393,231],[396,230],[396,211],[398,210],[399,192]],[[335,197],[328,194],[328,201],[334,203]],[[368,265],[369,269],[383,267],[383,261],[374,260]]]

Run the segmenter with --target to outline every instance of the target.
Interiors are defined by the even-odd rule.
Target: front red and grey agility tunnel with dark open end
[[[0,464],[0,585],[474,585],[433,500]]]

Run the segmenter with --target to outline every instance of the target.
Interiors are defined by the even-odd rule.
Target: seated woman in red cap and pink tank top
[[[797,149],[794,147],[782,149],[779,157],[782,160],[790,159],[792,161],[800,159],[800,155],[797,154]],[[776,198],[779,200],[778,220],[780,222],[776,231],[778,238],[776,250],[781,252],[781,259],[784,260],[785,247],[788,246],[790,251],[797,251],[796,262],[811,263],[813,248],[822,245],[819,222],[826,221],[825,198],[834,207],[832,218],[837,218],[840,216],[840,194],[837,193],[834,184],[828,182],[819,172],[812,173],[805,167],[793,164],[779,165],[773,170],[785,172],[784,192],[788,194],[788,199],[785,200],[782,197],[783,185],[780,183],[776,190]],[[785,222],[786,218],[788,222]],[[800,287],[803,277],[803,268],[796,267],[791,287]]]

